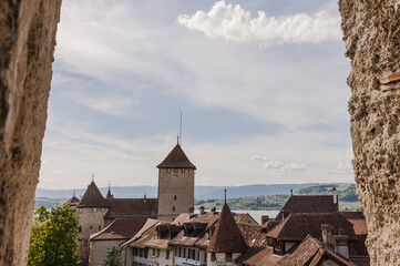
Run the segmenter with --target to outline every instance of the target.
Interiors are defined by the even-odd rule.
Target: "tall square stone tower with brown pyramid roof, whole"
[[[194,206],[194,174],[191,163],[180,144],[171,151],[158,168],[158,219],[174,221]]]

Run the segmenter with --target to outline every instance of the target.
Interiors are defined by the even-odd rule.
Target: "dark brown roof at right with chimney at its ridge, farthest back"
[[[291,195],[280,209],[276,219],[291,213],[337,213],[339,205],[334,203],[334,195]]]

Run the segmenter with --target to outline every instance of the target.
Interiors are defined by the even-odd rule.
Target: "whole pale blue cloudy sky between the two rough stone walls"
[[[63,1],[41,188],[353,182],[350,71],[331,0]]]

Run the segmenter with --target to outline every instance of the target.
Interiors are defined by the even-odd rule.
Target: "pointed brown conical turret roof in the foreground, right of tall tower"
[[[248,248],[227,204],[224,204],[208,252],[244,253]]]

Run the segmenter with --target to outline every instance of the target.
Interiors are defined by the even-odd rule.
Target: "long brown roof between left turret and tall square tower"
[[[156,217],[157,198],[105,198],[110,206],[105,218]]]

